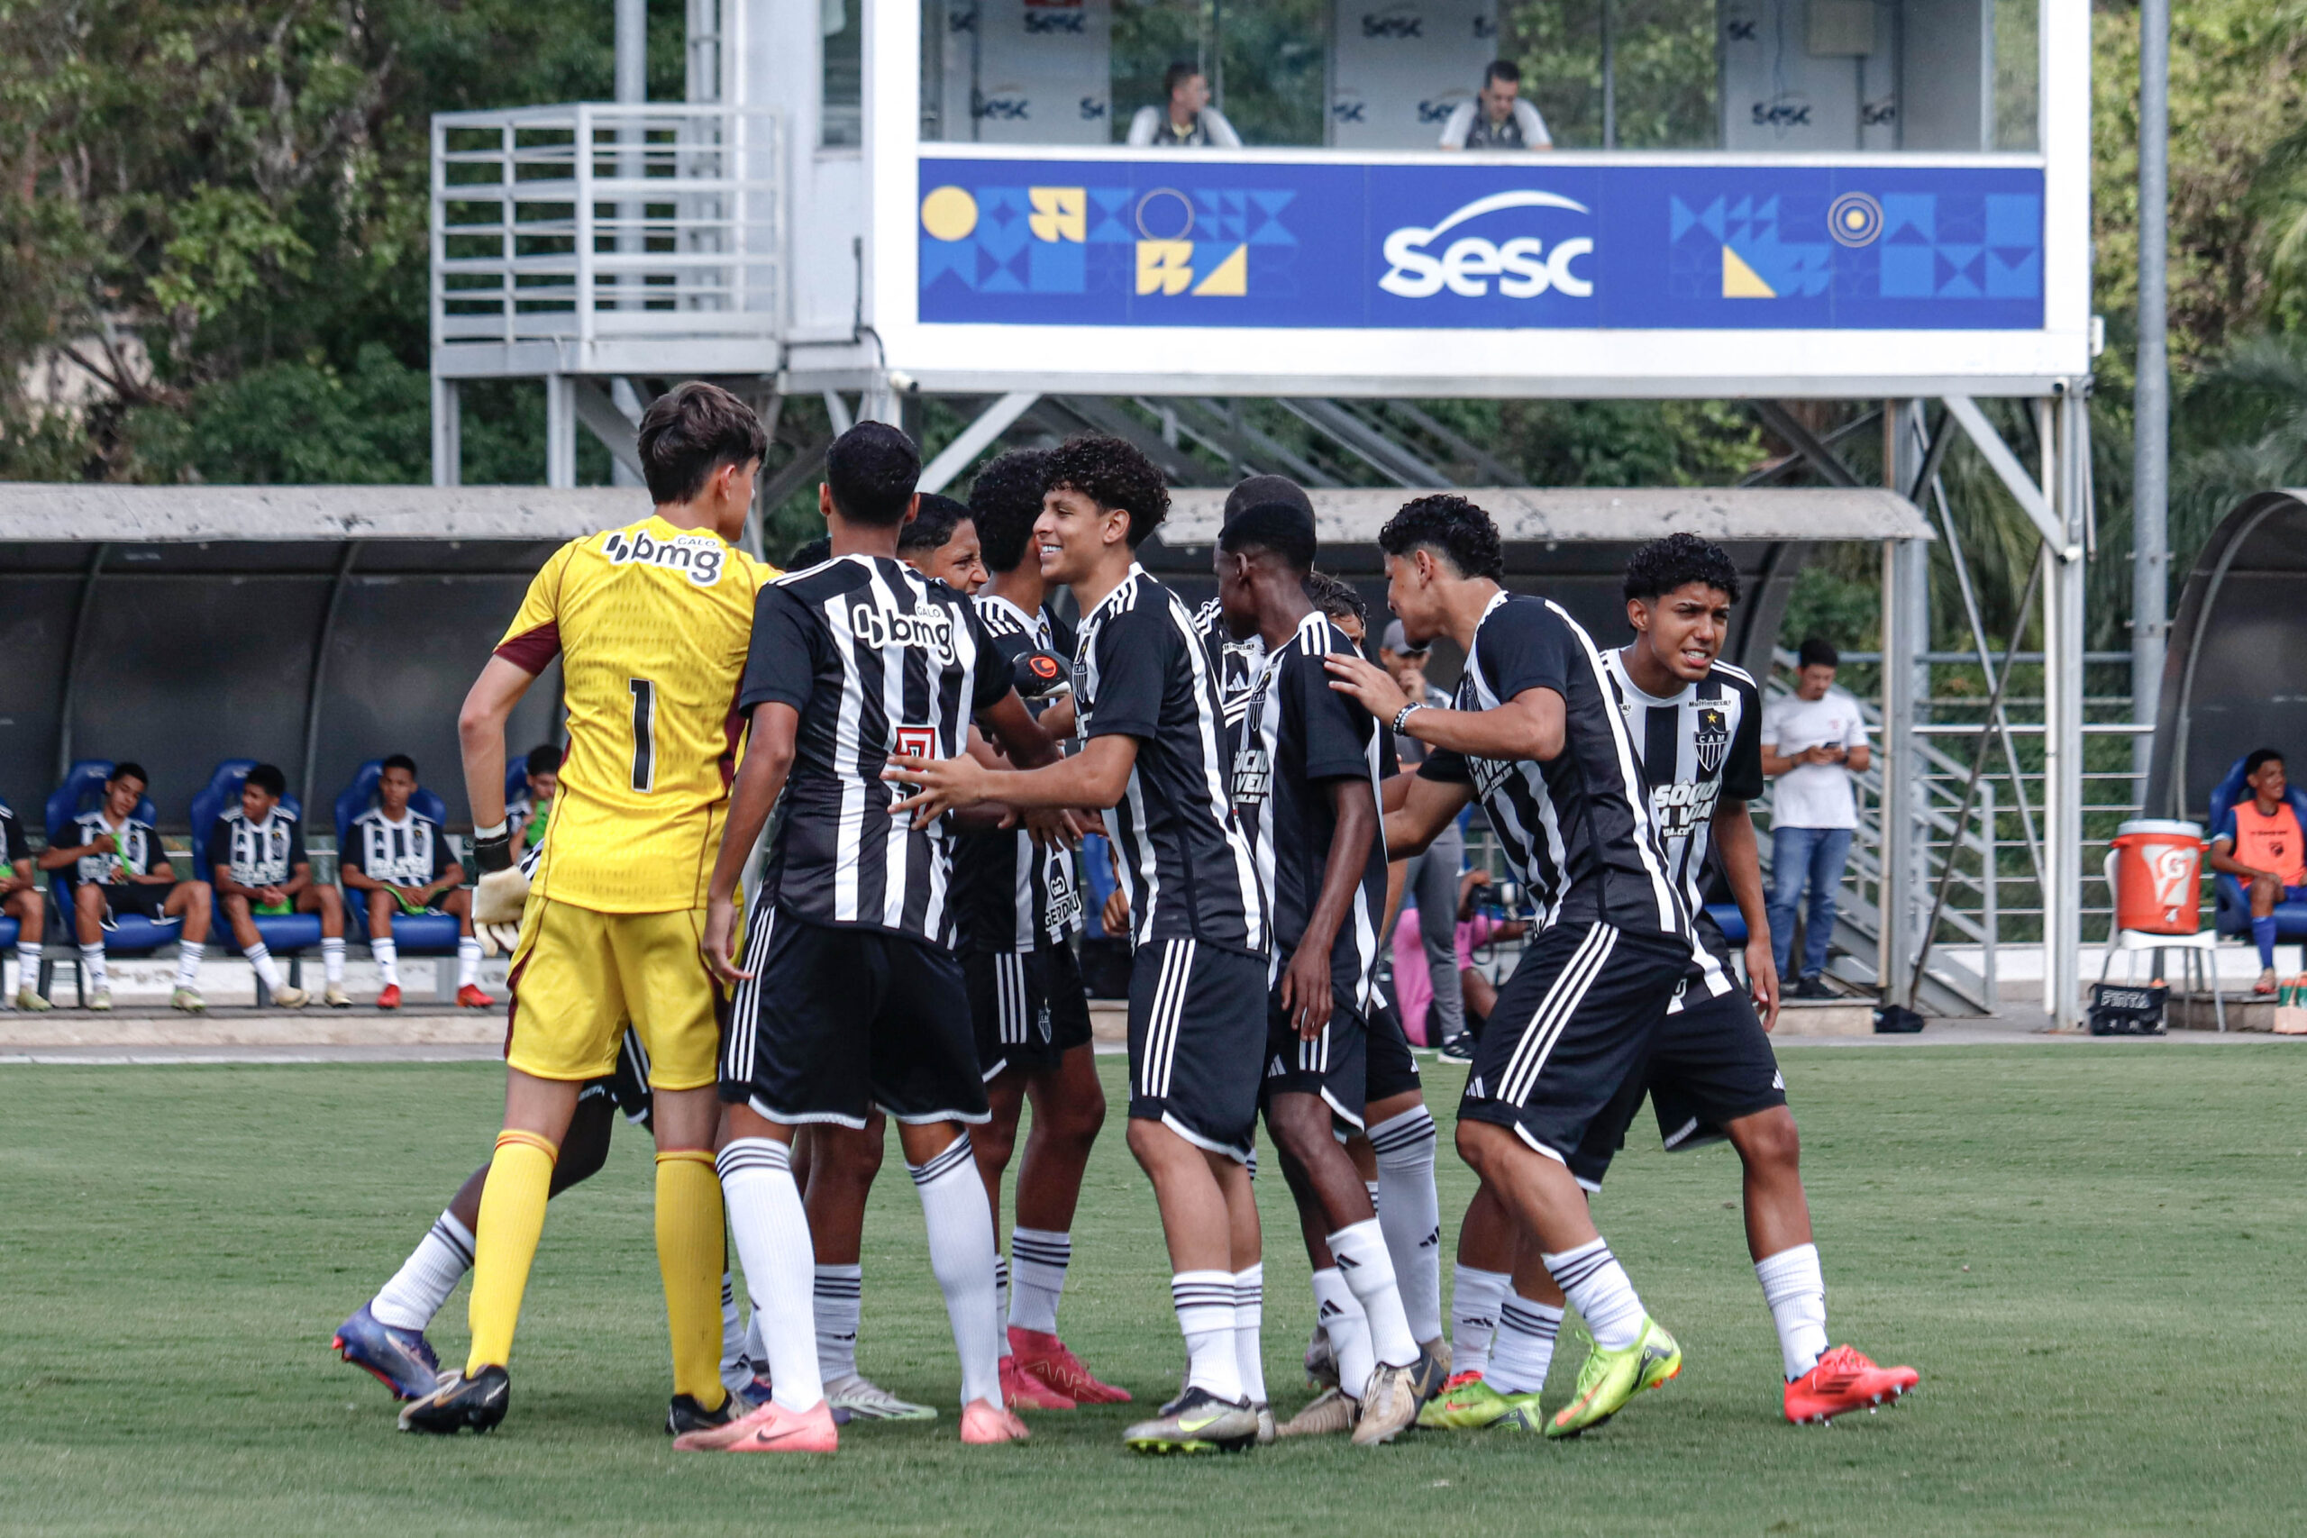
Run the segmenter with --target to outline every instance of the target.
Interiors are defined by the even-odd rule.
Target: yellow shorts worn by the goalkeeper
[[[531,897],[505,973],[505,1061],[538,1079],[600,1079],[630,1019],[651,1088],[715,1084],[720,989],[697,950],[704,929],[704,909],[595,913]]]

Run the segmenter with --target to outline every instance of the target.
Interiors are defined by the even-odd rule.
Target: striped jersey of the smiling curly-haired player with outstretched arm
[[[1082,742],[1137,738],[1105,814],[1130,892],[1130,943],[1193,938],[1264,955],[1267,911],[1225,786],[1225,708],[1193,613],[1144,567],[1082,618],[1073,650]]]

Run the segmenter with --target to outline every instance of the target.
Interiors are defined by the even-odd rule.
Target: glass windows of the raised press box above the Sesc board
[[[828,143],[861,9],[824,0]],[[2032,152],[2037,53],[2037,0],[923,0],[920,138]]]

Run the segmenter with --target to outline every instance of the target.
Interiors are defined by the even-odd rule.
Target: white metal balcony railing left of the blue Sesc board
[[[773,113],[570,101],[431,131],[436,346],[777,332]]]

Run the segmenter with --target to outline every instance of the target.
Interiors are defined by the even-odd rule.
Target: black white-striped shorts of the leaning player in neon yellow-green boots
[[[1523,952],[1474,1047],[1460,1118],[1513,1128],[1562,1164],[1650,1061],[1689,971],[1670,936],[1555,925]]]

